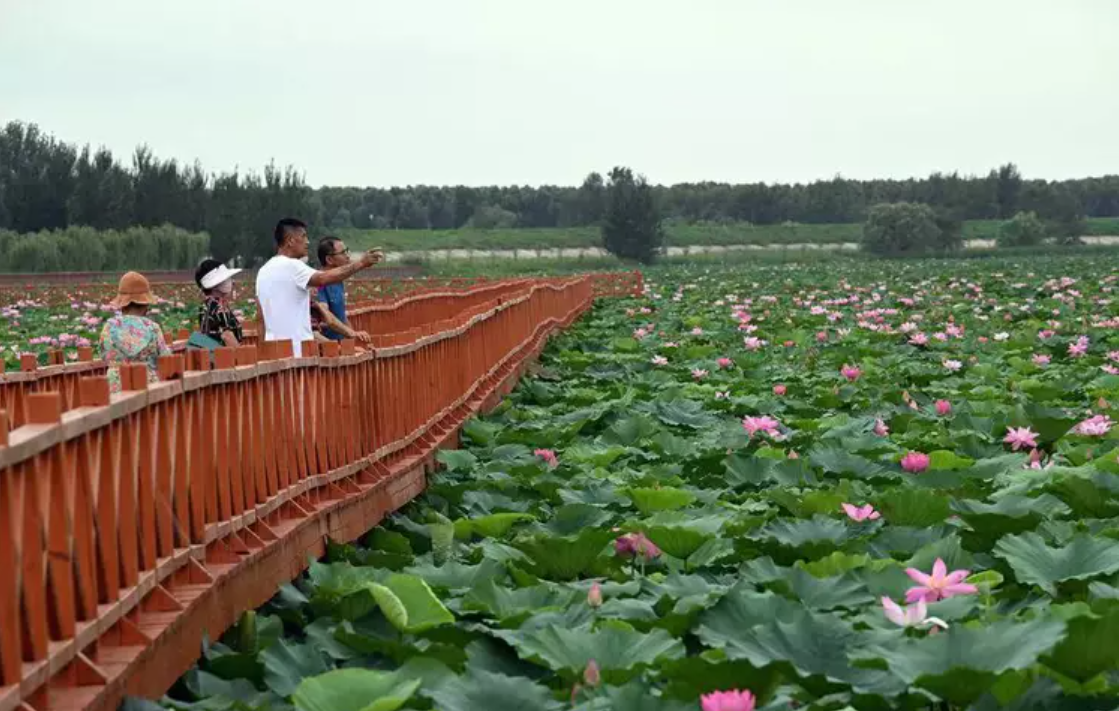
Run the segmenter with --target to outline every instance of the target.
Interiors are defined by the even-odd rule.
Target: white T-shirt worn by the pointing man
[[[298,357],[311,331],[311,292],[314,270],[290,256],[276,254],[256,273],[256,298],[264,315],[265,340],[290,340]]]

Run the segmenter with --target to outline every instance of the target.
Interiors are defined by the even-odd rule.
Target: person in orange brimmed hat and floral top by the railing
[[[120,314],[105,321],[101,330],[101,357],[110,366],[110,392],[121,392],[122,363],[143,363],[148,366],[148,382],[159,381],[159,357],[171,355],[171,349],[159,324],[147,316],[154,302],[156,297],[143,274],[129,272],[121,277],[116,298],[109,302]]]

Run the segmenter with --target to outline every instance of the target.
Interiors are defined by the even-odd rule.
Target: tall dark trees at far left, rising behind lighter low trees
[[[35,124],[12,122],[0,131],[0,230],[31,235],[82,225],[110,231],[110,235],[115,231],[169,235],[172,233],[160,227],[173,225],[189,233],[207,233],[209,247],[203,254],[208,251],[223,260],[237,255],[252,260],[273,252],[272,228],[279,216],[307,215],[321,224],[321,208],[313,197],[292,168],[269,165],[260,174],[210,175],[197,162],[187,166],[161,160],[144,146],[124,165],[104,148],[78,148],[43,133]],[[135,226],[151,230],[128,230]],[[162,242],[162,237],[157,241]],[[150,242],[137,237],[135,244]],[[133,242],[125,240],[124,244]],[[64,252],[60,243],[59,254]],[[182,253],[153,256],[152,261],[141,258],[143,264],[134,265],[189,264],[178,256]],[[69,263],[66,258],[58,259]],[[53,262],[55,258],[48,254],[41,260]],[[7,259],[0,264],[0,271],[12,268]],[[106,268],[114,269],[112,264]]]

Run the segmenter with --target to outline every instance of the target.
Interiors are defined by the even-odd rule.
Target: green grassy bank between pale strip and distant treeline
[[[966,240],[994,240],[998,221],[977,219],[965,223]],[[828,244],[858,242],[861,224],[830,225],[750,225],[750,224],[670,224],[668,244]],[[1101,217],[1088,221],[1088,235],[1119,234],[1119,218]],[[599,246],[601,238],[594,227],[509,228],[509,230],[345,230],[339,236],[355,249],[379,246],[391,251],[424,250],[539,250]]]

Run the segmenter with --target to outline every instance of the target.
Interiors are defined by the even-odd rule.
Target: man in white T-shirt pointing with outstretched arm
[[[256,300],[264,319],[265,340],[290,340],[298,357],[304,340],[313,340],[311,330],[311,289],[349,279],[382,260],[370,250],[357,260],[326,271],[307,265],[309,240],[307,224],[293,217],[276,223],[273,234],[276,255],[256,273]]]

